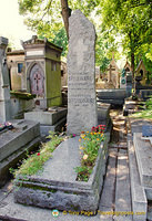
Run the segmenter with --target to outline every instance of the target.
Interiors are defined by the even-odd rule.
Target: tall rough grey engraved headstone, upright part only
[[[68,134],[80,134],[98,124],[95,30],[80,10],[73,12],[69,24]]]

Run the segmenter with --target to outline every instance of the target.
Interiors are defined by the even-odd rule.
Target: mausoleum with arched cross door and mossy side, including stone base
[[[61,98],[62,49],[32,36],[23,42],[26,53],[27,91],[36,95],[34,108],[24,113],[24,118],[39,122],[41,135],[61,130],[65,124],[67,109],[58,107]],[[52,108],[51,108],[52,107]],[[50,109],[50,110],[49,110]]]

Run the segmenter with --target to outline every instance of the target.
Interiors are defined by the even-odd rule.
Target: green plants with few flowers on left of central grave
[[[14,177],[31,176],[42,170],[44,162],[52,157],[53,150],[64,139],[63,136],[58,136],[50,131],[48,138],[51,138],[48,143],[42,144],[40,150],[33,155],[28,155],[27,159],[23,159],[22,165],[13,171]]]

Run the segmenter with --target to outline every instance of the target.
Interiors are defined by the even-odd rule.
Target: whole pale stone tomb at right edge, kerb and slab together
[[[133,221],[152,220],[152,125],[146,119],[129,118],[129,165],[133,206]],[[145,212],[135,215],[135,212]]]

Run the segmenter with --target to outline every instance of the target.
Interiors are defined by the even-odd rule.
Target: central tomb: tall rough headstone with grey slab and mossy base
[[[82,129],[91,130],[91,127],[98,124],[94,92],[94,40],[93,24],[80,10],[74,11],[70,17],[68,57],[69,134],[80,134]],[[82,84],[79,85],[80,83]],[[80,87],[82,91],[78,92]],[[74,171],[74,168],[80,166],[81,159],[79,138],[75,136],[62,141],[52,152],[52,158],[44,164],[41,172],[28,176],[28,180],[22,176],[17,178],[16,185],[19,188],[14,191],[16,202],[67,211],[97,211],[105,173],[110,133],[105,133],[105,140],[101,143],[88,181],[78,181],[78,173]]]

